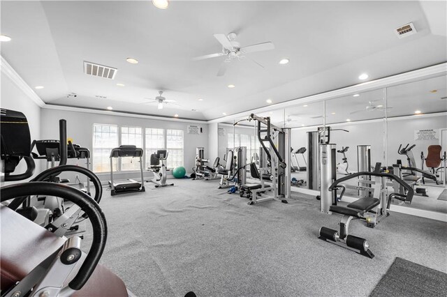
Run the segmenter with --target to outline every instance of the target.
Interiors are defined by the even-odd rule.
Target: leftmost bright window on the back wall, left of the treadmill
[[[118,126],[93,124],[93,171],[110,172],[110,151],[118,146]],[[114,170],[117,168],[114,166]]]

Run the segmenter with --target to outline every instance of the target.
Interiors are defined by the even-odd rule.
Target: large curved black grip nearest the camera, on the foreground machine
[[[91,226],[93,227],[93,240],[91,248],[84,263],[80,267],[78,273],[73,280],[68,284],[73,290],[80,290],[89,277],[93,273],[96,265],[101,259],[107,241],[107,223],[105,222],[104,213],[98,206],[96,201],[91,199],[84,192],[71,188],[69,185],[61,183],[47,183],[47,182],[30,182],[30,183],[16,183],[14,185],[7,185],[0,189],[1,202],[13,199],[14,197],[31,196],[31,195],[47,195],[56,196],[67,199],[74,204],[80,206],[82,211],[89,215]]]

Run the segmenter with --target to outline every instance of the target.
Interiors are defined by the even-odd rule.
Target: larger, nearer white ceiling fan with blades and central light
[[[217,76],[222,76],[226,73],[226,68],[228,66],[228,63],[231,61],[234,61],[235,59],[241,60],[244,59],[244,54],[249,54],[251,52],[262,52],[265,50],[273,50],[274,44],[270,41],[267,43],[258,43],[256,45],[248,45],[247,47],[240,47],[240,43],[235,41],[237,37],[236,33],[229,33],[228,35],[225,34],[214,34],[214,38],[219,41],[219,43],[222,45],[222,52],[217,52],[215,54],[205,54],[205,56],[196,56],[193,58],[193,61],[200,61],[205,59],[211,59],[211,58],[217,58],[218,56],[225,56],[225,60],[221,63],[221,66],[219,68],[219,71],[217,72]],[[262,66],[260,63],[254,61],[253,59],[250,59],[254,63],[256,63],[258,66]]]

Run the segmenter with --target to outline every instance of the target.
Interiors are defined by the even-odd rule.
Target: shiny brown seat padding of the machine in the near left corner
[[[0,207],[1,218],[1,291],[22,280],[31,270],[58,250],[64,239],[6,206]],[[10,244],[18,243],[18,244]],[[74,297],[129,296],[124,282],[112,271],[98,264],[87,283]]]

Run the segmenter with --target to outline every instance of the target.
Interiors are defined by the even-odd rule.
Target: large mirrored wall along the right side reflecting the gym
[[[415,188],[425,189],[418,190],[422,194],[415,196],[411,204],[399,203],[400,206],[447,213],[442,168],[445,162],[441,160],[447,150],[446,89],[447,77],[439,76],[318,102],[303,102],[257,115],[270,117],[271,122],[281,128],[291,128],[293,191],[318,190],[312,186],[312,170],[309,170],[315,162],[315,148],[309,135],[319,127],[330,127],[330,137],[325,141],[337,145],[337,178],[358,172],[359,158],[367,149],[371,167],[368,169],[373,170],[380,163],[392,172],[393,165],[398,165],[402,178],[408,183],[416,181]],[[256,126],[254,122],[245,121],[248,116],[249,112],[240,119],[219,123],[220,158],[230,148],[245,146],[247,162],[258,160],[260,144]],[[402,151],[405,147],[407,151]],[[354,180],[351,183],[357,184]],[[392,191],[393,185],[388,186]],[[345,195],[359,197],[359,192],[346,190]]]

